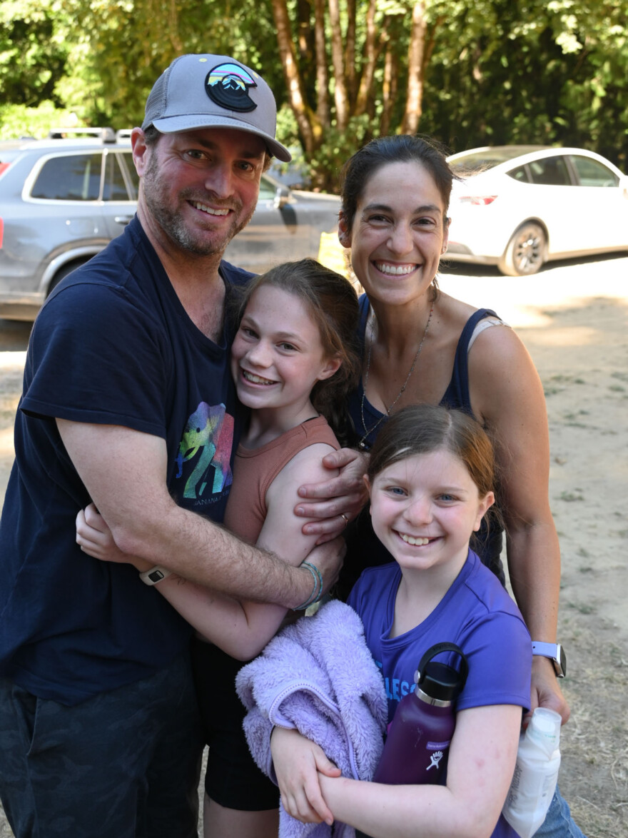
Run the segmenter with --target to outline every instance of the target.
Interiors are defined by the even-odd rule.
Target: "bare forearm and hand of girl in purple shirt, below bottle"
[[[521,707],[514,705],[463,710],[456,716],[445,786],[365,783],[333,778],[319,770],[322,798],[335,820],[373,838],[413,838],[418,828],[421,838],[489,838],[512,779],[520,725]],[[273,744],[281,800],[286,810],[286,803],[293,807],[288,810],[291,815],[316,822],[322,807],[318,804],[315,810],[313,805],[317,789],[311,777],[312,760],[303,758],[299,747],[294,750],[301,768],[293,771],[291,787],[285,788],[286,766],[278,764],[281,747]],[[315,810],[314,816],[302,817],[308,805]]]

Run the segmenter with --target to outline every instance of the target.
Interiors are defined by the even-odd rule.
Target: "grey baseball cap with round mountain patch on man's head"
[[[261,137],[287,163],[291,153],[275,140],[276,122],[275,96],[255,70],[229,55],[180,55],[153,85],[142,129],[236,128]]]

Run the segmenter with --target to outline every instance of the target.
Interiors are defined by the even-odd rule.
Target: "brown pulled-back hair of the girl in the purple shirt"
[[[440,449],[465,464],[481,498],[493,491],[495,454],[484,428],[462,411],[435,405],[410,405],[391,416],[371,449],[368,479],[399,460]]]

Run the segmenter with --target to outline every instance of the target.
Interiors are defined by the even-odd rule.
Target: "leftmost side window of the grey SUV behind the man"
[[[57,201],[98,200],[101,166],[101,153],[50,158],[33,184],[31,197]]]

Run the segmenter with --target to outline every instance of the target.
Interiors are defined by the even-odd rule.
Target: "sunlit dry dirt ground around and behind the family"
[[[522,279],[459,266],[440,286],[517,328],[543,380],[572,709],[560,784],[585,835],[628,838],[628,258]],[[0,500],[29,328],[0,321]],[[10,835],[0,810],[0,838]]]

